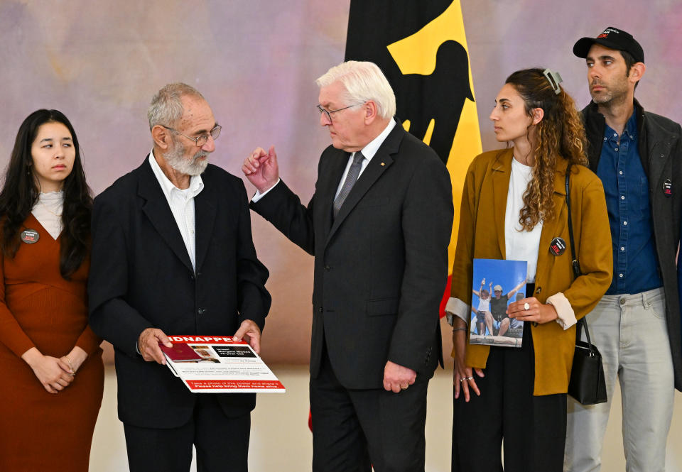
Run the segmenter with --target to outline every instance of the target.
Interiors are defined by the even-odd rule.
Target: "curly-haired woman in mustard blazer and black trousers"
[[[503,439],[504,471],[563,468],[575,322],[609,287],[612,254],[604,190],[583,167],[585,132],[560,80],[541,69],[507,78],[490,119],[497,141],[514,146],[477,156],[465,179],[447,308],[455,315],[453,471],[502,471]],[[575,280],[567,247],[568,165],[583,270]],[[565,251],[551,251],[556,238]],[[521,348],[468,343],[474,258],[527,261],[526,298],[508,309],[509,317],[526,322]]]

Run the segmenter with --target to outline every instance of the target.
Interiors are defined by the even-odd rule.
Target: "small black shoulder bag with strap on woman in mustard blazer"
[[[570,217],[570,192],[568,182],[570,178],[570,164],[566,168],[566,207],[568,208],[568,236],[570,238],[570,255],[573,257],[573,275],[580,277],[580,263],[575,257],[575,244],[573,243],[573,222]],[[585,329],[585,339],[580,339],[580,331]],[[578,321],[575,329],[575,353],[573,354],[573,368],[570,370],[568,381],[568,395],[578,400],[583,405],[595,405],[605,403],[606,380],[604,379],[604,366],[602,355],[597,346],[590,341],[588,321],[583,317]]]

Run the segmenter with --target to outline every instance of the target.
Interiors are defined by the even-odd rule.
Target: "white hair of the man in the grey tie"
[[[342,62],[315,80],[315,83],[321,88],[337,81],[346,89],[343,97],[345,106],[372,100],[377,104],[377,114],[381,118],[392,118],[396,114],[396,95],[384,72],[374,62]]]

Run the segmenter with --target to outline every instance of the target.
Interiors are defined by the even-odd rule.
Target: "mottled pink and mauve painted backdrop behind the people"
[[[240,175],[249,151],[274,144],[283,179],[307,202],[328,145],[314,79],[343,60],[349,3],[0,0],[0,165],[23,118],[57,108],[75,126],[97,194],[151,148],[152,94],[183,81],[205,95],[223,126],[212,163]],[[585,63],[571,48],[606,26],[629,31],[644,47],[648,68],[637,97],[645,108],[682,121],[679,1],[462,0],[462,13],[486,150],[499,147],[487,116],[514,70],[558,70],[578,104],[588,103]],[[259,216],[252,221],[259,257],[271,271],[264,358],[306,363],[312,258]]]

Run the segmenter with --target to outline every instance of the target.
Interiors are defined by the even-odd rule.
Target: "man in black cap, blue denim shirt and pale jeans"
[[[646,66],[632,35],[609,27],[578,40],[573,53],[588,65],[588,159],[604,185],[614,264],[609,290],[586,319],[609,400],[620,383],[627,471],[663,471],[674,388],[682,388],[675,266],[682,128],[634,99]],[[600,469],[610,405],[585,407],[569,397],[566,471]]]

